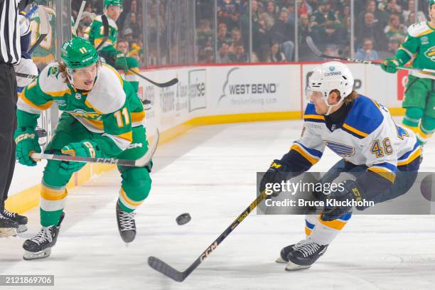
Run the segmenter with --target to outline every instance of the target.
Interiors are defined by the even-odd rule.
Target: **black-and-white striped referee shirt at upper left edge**
[[[18,3],[0,0],[0,63],[15,64],[21,60]]]

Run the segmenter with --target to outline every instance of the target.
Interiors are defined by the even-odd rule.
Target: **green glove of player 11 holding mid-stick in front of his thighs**
[[[61,149],[63,154],[80,157],[102,157],[102,151],[95,141],[83,140],[78,143],[70,143]],[[79,171],[86,163],[74,161],[62,161],[59,165],[61,174],[73,174]]]

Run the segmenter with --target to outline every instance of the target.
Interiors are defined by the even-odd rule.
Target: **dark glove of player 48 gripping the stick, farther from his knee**
[[[262,193],[263,190],[267,190],[269,197],[278,196],[281,190],[272,190],[273,184],[286,181],[290,178],[290,175],[289,168],[281,160],[275,159],[269,169],[264,173],[262,181],[260,181],[259,192]]]

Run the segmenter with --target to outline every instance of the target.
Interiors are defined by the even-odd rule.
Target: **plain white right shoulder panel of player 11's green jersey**
[[[87,95],[86,104],[96,112],[109,114],[121,109],[126,99],[122,77],[110,65],[102,65],[97,81]]]

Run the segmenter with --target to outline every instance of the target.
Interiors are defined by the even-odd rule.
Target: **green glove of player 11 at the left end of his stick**
[[[26,166],[36,166],[36,161],[31,159],[33,152],[41,153],[41,146],[38,144],[38,135],[32,128],[16,129],[14,134],[16,143],[15,158],[18,163]]]

